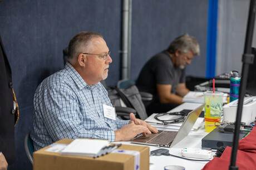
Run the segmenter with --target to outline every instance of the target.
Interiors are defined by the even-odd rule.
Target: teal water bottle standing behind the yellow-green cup
[[[230,71],[230,102],[237,100],[239,97],[241,76],[238,71]]]

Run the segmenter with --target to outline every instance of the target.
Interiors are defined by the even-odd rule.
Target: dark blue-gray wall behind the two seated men
[[[198,39],[201,55],[186,70],[205,76],[208,1],[132,1],[131,78],[145,62],[189,33]],[[99,32],[113,59],[107,85],[120,79],[122,1],[14,1],[0,2],[0,34],[12,68],[20,117],[15,128],[16,162],[9,169],[32,169],[23,140],[32,129],[33,95],[38,84],[63,68],[62,49],[77,32]],[[1,117],[0,117],[1,119]]]

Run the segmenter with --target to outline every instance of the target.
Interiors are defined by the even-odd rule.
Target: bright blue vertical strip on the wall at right
[[[215,76],[218,0],[208,1],[208,32],[206,51],[206,78]]]

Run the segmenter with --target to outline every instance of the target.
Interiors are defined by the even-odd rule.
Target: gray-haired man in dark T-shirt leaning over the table
[[[154,97],[146,106],[147,114],[166,112],[182,104],[189,90],[185,85],[185,65],[200,54],[199,44],[188,34],[181,35],[167,50],[154,55],[142,68],[136,85]]]

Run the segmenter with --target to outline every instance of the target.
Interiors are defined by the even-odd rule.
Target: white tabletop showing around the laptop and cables
[[[200,105],[201,104],[186,102],[184,104],[179,105],[178,107],[175,107],[173,110],[170,110],[170,112],[181,111],[183,109],[193,110]],[[207,134],[208,133],[205,132],[204,127],[200,127],[197,131],[190,132],[188,136],[186,136],[183,140],[181,140],[179,143],[174,145],[172,148],[149,146],[150,151],[154,151],[159,148],[165,148],[169,150],[170,154],[181,156],[181,149],[183,149],[184,147],[201,148],[201,139]],[[121,143],[124,143],[127,145],[136,145],[130,142],[121,142]],[[150,170],[164,169],[164,167],[168,165],[183,166],[185,167],[186,170],[198,170],[198,169],[202,169],[206,163],[208,162],[188,161],[188,160],[176,158],[173,156],[151,156]]]

